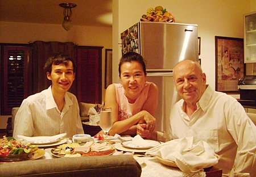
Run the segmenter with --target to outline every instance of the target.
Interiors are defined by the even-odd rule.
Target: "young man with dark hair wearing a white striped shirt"
[[[52,85],[24,99],[14,122],[14,138],[23,136],[67,137],[84,133],[76,96],[68,92],[75,80],[76,65],[67,54],[55,54],[44,65]]]

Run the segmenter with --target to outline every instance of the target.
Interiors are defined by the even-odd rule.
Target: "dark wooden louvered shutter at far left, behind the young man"
[[[1,115],[10,115],[32,92],[32,47],[1,44]]]

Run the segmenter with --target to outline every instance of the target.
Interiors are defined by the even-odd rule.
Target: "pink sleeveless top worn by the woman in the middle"
[[[146,83],[147,84],[142,89],[141,94],[133,104],[128,102],[128,99],[125,96],[125,90],[123,89],[121,83],[114,83],[115,94],[117,95],[117,104],[118,104],[118,116],[119,116],[118,120],[128,119],[129,117],[142,111],[142,107],[147,100],[148,90],[152,82],[146,82]]]

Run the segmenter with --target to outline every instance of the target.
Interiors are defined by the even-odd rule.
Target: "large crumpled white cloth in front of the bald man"
[[[157,155],[162,159],[174,161],[183,172],[197,172],[216,165],[218,155],[205,141],[194,143],[193,137],[168,141],[146,151],[147,155]]]

